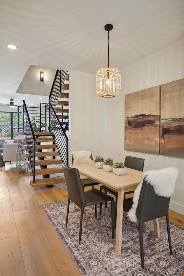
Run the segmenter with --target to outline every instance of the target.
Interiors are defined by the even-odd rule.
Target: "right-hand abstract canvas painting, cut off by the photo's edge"
[[[184,158],[184,78],[161,85],[160,154]]]

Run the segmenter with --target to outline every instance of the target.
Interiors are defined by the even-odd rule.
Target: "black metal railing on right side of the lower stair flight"
[[[45,127],[52,134],[62,162],[68,166],[68,137],[50,103],[45,105]]]

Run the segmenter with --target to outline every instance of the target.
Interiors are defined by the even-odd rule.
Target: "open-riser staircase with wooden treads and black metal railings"
[[[65,75],[64,75],[65,74]],[[64,175],[55,177],[54,174],[63,173],[62,163],[68,166],[68,90],[69,74],[57,70],[49,95],[49,103],[45,105],[45,132],[33,132],[28,110],[23,100],[18,106],[18,118],[23,125],[25,134],[24,150],[29,158],[28,174],[32,187],[64,183]],[[19,111],[20,110],[20,111]],[[43,178],[41,178],[43,177]]]

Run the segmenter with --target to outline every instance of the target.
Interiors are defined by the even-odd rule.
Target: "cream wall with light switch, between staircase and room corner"
[[[106,148],[107,101],[95,93],[94,74],[72,70],[69,78],[69,154],[89,150],[93,158],[105,157]],[[72,164],[71,156],[69,163]]]

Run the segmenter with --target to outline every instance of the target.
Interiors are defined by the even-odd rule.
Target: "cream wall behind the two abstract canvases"
[[[122,60],[123,64],[123,60]],[[107,152],[114,162],[125,156],[145,158],[144,171],[175,166],[179,179],[170,209],[184,215],[184,160],[124,150],[124,95],[184,78],[184,39],[121,70],[122,93],[107,100]]]

